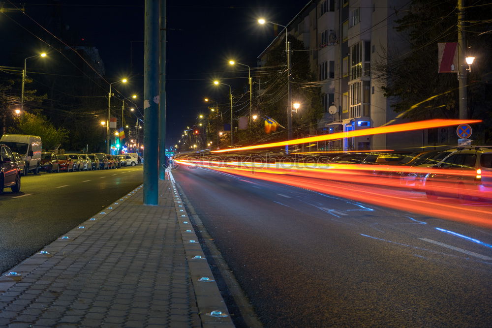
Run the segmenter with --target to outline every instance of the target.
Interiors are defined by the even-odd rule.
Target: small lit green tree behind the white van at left
[[[43,115],[24,113],[17,119],[17,126],[12,129],[14,133],[40,136],[43,149],[58,149],[63,142],[68,140],[68,130],[56,128]]]

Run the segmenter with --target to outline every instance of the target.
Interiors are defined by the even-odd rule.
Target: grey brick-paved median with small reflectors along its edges
[[[2,273],[0,327],[233,327],[174,182],[142,189]]]

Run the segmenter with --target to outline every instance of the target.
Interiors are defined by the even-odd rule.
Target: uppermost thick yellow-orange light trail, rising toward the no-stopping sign
[[[288,145],[304,144],[304,143],[309,143],[309,142],[336,140],[336,139],[352,138],[352,137],[361,137],[361,136],[368,136],[368,135],[375,135],[375,134],[405,132],[405,131],[413,131],[413,130],[421,130],[421,129],[431,129],[431,128],[443,127],[443,126],[480,123],[481,121],[482,121],[481,119],[429,119],[429,120],[418,121],[418,122],[409,122],[409,123],[401,123],[401,124],[395,124],[395,125],[378,126],[378,127],[373,127],[373,128],[364,129],[364,130],[353,130],[353,131],[348,131],[348,132],[337,132],[337,133],[331,133],[331,134],[323,134],[323,135],[315,136],[315,137],[285,140],[285,141],[279,141],[279,142],[270,143],[270,144],[246,146],[246,147],[231,148],[231,149],[213,150],[212,152],[227,152],[227,151],[239,151],[239,150],[248,150],[248,149],[281,147],[281,146],[288,146]]]

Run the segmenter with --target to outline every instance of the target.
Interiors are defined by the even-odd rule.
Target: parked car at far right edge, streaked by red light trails
[[[463,147],[453,149],[437,165],[425,181],[426,195],[460,200],[471,198],[492,199],[492,149]]]

